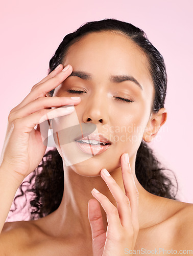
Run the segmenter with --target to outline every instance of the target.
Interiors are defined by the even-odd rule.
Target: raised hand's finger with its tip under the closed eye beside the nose
[[[61,107],[68,104],[77,105],[80,102],[80,98],[78,100],[71,99],[70,97],[39,97],[32,102],[29,102],[21,109],[12,112],[9,115],[9,122],[13,122],[13,120],[21,117],[28,116],[32,113],[40,111],[42,109],[51,109],[52,107]]]

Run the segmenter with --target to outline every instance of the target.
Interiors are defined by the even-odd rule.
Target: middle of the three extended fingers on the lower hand
[[[116,201],[120,223],[123,227],[130,228],[132,226],[132,222],[129,198],[125,195],[123,190],[119,187],[119,185],[111,177],[106,169],[101,170],[101,177],[106,182],[109,190],[111,191]]]

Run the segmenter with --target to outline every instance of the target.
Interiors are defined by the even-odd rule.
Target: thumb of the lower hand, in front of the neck
[[[88,219],[90,222],[92,241],[102,233],[106,233],[103,224],[103,217],[99,202],[96,199],[90,199],[88,202]]]

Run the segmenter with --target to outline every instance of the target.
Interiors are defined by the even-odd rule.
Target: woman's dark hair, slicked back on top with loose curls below
[[[50,60],[49,74],[63,62],[70,46],[85,35],[100,31],[113,31],[125,35],[147,56],[148,68],[155,89],[152,112],[157,113],[164,107],[166,96],[167,75],[164,60],[162,55],[148,40],[146,34],[132,24],[114,18],[83,24],[75,32],[64,37]],[[53,96],[53,93],[54,90],[50,91],[50,96]],[[172,177],[166,174],[166,170],[170,171]],[[135,172],[139,183],[144,189],[154,195],[177,200],[178,182],[174,173],[172,170],[161,167],[152,149],[143,140],[137,151]],[[27,189],[23,191],[25,187]],[[31,220],[49,215],[59,207],[63,196],[63,189],[64,173],[62,158],[56,148],[54,148],[44,155],[41,163],[30,176],[30,179],[22,182],[20,185],[20,194],[14,199],[15,209],[15,200],[18,197],[32,193],[33,198],[30,201]]]

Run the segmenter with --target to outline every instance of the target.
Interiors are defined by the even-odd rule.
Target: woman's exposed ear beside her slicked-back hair
[[[167,111],[165,108],[160,109],[157,113],[152,113],[143,133],[143,140],[151,142],[157,135],[160,127],[165,123],[166,119]]]

